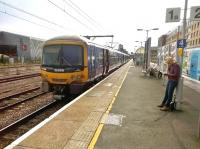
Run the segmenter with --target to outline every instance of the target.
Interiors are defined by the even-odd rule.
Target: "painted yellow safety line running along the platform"
[[[130,66],[129,66],[129,68],[130,68]],[[128,69],[128,71],[129,71],[129,69]],[[124,78],[123,78],[123,80],[122,80],[122,83],[120,84],[120,87],[118,88],[118,90],[117,90],[115,96],[113,97],[113,99],[112,99],[112,101],[111,101],[111,103],[110,103],[110,105],[109,105],[109,107],[108,107],[108,110],[105,112],[104,115],[108,115],[109,112],[110,112],[110,110],[112,109],[112,105],[113,105],[113,103],[114,103],[115,100],[116,100],[116,97],[117,97],[117,95],[118,95],[118,93],[119,93],[119,90],[120,90],[121,87],[122,87],[122,84],[123,84],[123,82],[124,82],[124,80],[125,80],[125,78],[126,78],[126,76],[127,76],[127,74],[128,74],[128,71],[126,72],[126,74],[125,74],[125,76],[124,76]],[[103,124],[100,123],[99,126],[97,127],[97,130],[96,130],[96,132],[95,132],[95,134],[94,134],[94,137],[92,138],[92,141],[90,142],[90,144],[89,144],[89,146],[88,146],[88,149],[94,149],[94,146],[95,146],[95,144],[96,144],[96,142],[97,142],[97,139],[99,138],[99,135],[100,135],[100,133],[101,133],[101,131],[102,131],[102,129],[103,129],[103,126],[104,126],[104,123],[103,123]]]

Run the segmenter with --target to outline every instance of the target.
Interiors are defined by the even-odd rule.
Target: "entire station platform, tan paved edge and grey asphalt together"
[[[200,93],[184,87],[182,111],[164,112],[162,84],[129,62],[7,148],[200,149]]]

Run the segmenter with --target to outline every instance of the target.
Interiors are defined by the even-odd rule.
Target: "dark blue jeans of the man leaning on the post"
[[[176,88],[177,85],[178,85],[178,81],[168,80],[166,91],[165,91],[165,97],[163,99],[162,105],[165,105],[166,107],[170,106],[174,89]]]

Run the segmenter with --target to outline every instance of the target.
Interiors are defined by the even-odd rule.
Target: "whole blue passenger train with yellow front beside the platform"
[[[82,36],[61,36],[44,43],[42,89],[77,94],[88,83],[106,76],[129,60],[129,55]]]

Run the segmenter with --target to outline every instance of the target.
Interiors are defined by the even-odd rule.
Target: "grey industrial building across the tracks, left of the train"
[[[0,31],[0,54],[16,60],[40,59],[43,43],[42,39]]]

